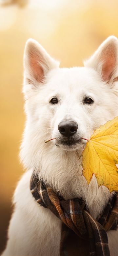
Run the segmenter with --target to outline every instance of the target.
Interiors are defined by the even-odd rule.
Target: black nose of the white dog
[[[66,137],[74,135],[77,129],[78,124],[74,121],[62,121],[58,125],[59,132]]]

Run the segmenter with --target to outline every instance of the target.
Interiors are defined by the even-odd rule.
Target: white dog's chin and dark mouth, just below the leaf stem
[[[82,139],[56,139],[55,145],[63,150],[84,150],[86,143]]]

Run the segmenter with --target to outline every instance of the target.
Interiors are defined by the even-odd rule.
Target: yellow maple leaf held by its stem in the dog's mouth
[[[98,186],[118,191],[118,117],[95,130],[82,153],[83,175],[88,184],[93,173]]]

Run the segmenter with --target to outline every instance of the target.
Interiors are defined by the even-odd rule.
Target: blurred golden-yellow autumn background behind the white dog
[[[19,146],[24,129],[23,52],[36,39],[61,61],[83,65],[109,35],[118,37],[117,0],[0,1],[0,251],[6,245],[11,199],[23,174]]]

